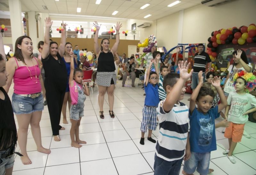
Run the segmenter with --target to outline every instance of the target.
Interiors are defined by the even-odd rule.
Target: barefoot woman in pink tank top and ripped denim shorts
[[[26,149],[29,124],[37,145],[37,151],[45,154],[51,152],[51,150],[42,146],[41,141],[39,122],[44,109],[45,88],[38,60],[33,57],[32,51],[32,41],[28,36],[20,36],[16,40],[14,57],[6,63],[6,70],[10,75],[7,84],[4,86],[8,93],[13,79],[12,108],[18,120],[18,144],[23,155],[21,161],[25,165],[32,163]]]

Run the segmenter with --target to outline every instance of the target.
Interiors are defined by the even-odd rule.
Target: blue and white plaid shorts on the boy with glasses
[[[156,107],[144,106],[142,109],[142,122],[140,130],[142,132],[147,132],[147,126],[149,130],[156,130],[156,119],[157,112]]]

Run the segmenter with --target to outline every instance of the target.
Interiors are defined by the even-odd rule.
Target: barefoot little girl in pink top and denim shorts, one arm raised
[[[70,51],[70,56],[73,58],[74,52]],[[83,71],[80,68],[74,69],[74,61],[70,61],[70,77],[69,77],[69,88],[70,88],[70,96],[72,100],[72,106],[70,107],[70,121],[72,123],[70,129],[70,138],[71,138],[71,146],[80,148],[82,145],[86,144],[86,141],[81,141],[79,139],[79,125],[81,121],[81,117],[84,116],[84,102],[85,95],[89,96],[90,92],[86,85],[83,82]],[[84,85],[84,88],[83,86]],[[75,139],[76,137],[76,139]]]

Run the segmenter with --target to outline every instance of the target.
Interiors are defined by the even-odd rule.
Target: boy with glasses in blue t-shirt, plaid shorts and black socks
[[[153,52],[153,59],[156,58],[157,60],[160,59],[160,52],[154,51]],[[159,69],[157,66],[156,60],[151,60],[149,64],[149,68],[151,68],[152,64],[154,63],[155,65],[155,72],[150,72],[149,70],[147,71],[146,79],[145,79],[145,93],[146,98],[144,102],[144,107],[142,110],[142,122],[141,122],[141,139],[140,139],[140,144],[144,145],[144,135],[145,132],[147,131],[147,126],[148,126],[148,140],[156,143],[154,139],[151,138],[152,135],[152,130],[156,130],[156,119],[157,119],[157,112],[156,112],[156,107],[159,103],[159,94],[158,94],[158,74],[159,74]],[[149,78],[148,78],[149,77]]]

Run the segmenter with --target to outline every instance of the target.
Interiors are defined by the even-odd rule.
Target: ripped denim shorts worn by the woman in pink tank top
[[[14,114],[30,114],[35,111],[44,110],[44,98],[40,94],[39,97],[32,99],[18,94],[12,94],[12,109]]]

